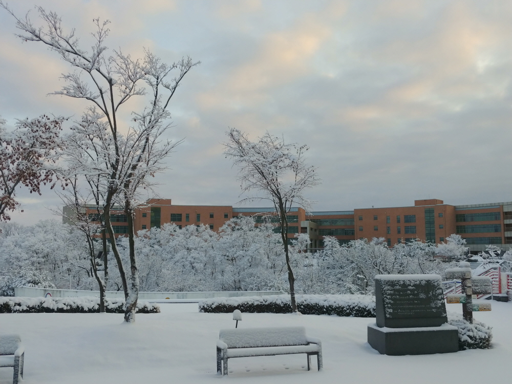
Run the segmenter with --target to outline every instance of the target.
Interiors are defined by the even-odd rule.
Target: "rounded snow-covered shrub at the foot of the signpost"
[[[473,324],[465,321],[461,315],[448,314],[448,324],[459,329],[459,351],[465,349],[488,349],[493,340],[493,327],[473,320]]]

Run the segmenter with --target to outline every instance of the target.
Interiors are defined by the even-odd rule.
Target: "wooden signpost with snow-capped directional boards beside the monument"
[[[462,261],[458,268],[446,269],[444,272],[448,280],[460,280],[462,294],[450,294],[446,296],[447,304],[462,304],[462,316],[464,320],[473,324],[473,312],[490,311],[490,303],[473,303],[474,294],[491,294],[492,282],[487,276],[471,276],[470,263]]]

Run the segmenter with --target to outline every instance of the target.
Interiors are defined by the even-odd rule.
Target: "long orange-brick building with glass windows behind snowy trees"
[[[92,207],[86,209],[94,212]],[[122,236],[127,229],[126,217],[118,210],[114,207],[111,218],[114,231]],[[136,210],[134,225],[140,230],[171,222],[179,226],[205,224],[218,231],[232,217],[272,211],[230,205],[173,205],[170,199],[151,199]],[[308,215],[303,208],[295,207],[289,212],[288,222],[289,238],[298,232],[307,233],[313,249],[322,248],[324,236],[333,236],[340,244],[382,237],[393,246],[415,239],[441,243],[452,233],[460,234],[472,252],[484,250],[488,244],[503,250],[512,245],[512,202],[449,205],[429,199],[415,200],[414,206],[314,211]]]

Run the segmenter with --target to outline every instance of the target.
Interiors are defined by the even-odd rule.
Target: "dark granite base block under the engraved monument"
[[[424,355],[459,350],[457,327],[387,328],[368,325],[368,343],[383,355]]]

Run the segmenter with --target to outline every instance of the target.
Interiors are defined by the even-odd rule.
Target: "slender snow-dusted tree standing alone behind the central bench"
[[[304,163],[304,154],[309,148],[306,145],[285,144],[283,138],[272,136],[268,132],[255,142],[250,141],[247,134],[234,128],[227,135],[224,154],[233,159],[234,165],[240,167],[239,180],[243,192],[255,189],[265,195],[244,200],[270,200],[279,215],[291,306],[292,311],[297,312],[295,277],[288,250],[287,214],[294,204],[308,209],[311,202],[304,197],[304,189],[319,183],[315,168]]]

